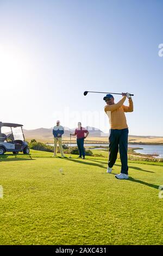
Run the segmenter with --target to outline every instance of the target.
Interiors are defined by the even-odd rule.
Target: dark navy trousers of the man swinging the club
[[[121,158],[121,173],[128,174],[128,159],[127,159],[127,149],[128,149],[128,128],[122,130],[113,130],[110,131],[109,136],[109,162],[108,166],[112,168],[114,166],[118,149],[120,150]]]

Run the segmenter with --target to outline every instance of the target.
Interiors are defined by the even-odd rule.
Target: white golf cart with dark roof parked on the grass
[[[24,139],[22,126],[21,124],[0,122],[0,155],[5,152],[29,154],[28,143]],[[5,130],[9,128],[8,130],[11,130],[11,132],[3,133],[4,128]]]

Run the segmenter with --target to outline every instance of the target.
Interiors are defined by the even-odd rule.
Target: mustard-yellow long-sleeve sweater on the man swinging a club
[[[133,112],[133,100],[129,99],[129,106],[124,106],[123,103],[126,100],[126,96],[116,104],[106,105],[104,110],[109,117],[109,123],[111,129],[126,129],[127,121],[124,112]]]

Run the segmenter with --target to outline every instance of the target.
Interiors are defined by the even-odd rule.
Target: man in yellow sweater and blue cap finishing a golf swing
[[[129,93],[122,93],[122,96],[122,99],[118,103],[114,102],[114,97],[111,94],[106,94],[104,97],[104,101],[106,102],[104,110],[109,117],[110,123],[109,162],[106,172],[111,173],[119,149],[122,167],[121,173],[115,175],[115,177],[117,179],[128,179],[128,126],[124,112],[133,112],[133,100]],[[123,105],[126,97],[128,97],[129,106]]]

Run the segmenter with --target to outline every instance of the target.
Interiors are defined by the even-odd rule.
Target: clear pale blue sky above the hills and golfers
[[[0,0],[0,120],[107,132],[104,95],[84,90],[129,92],[129,133],[163,136],[162,10],[161,0]]]

